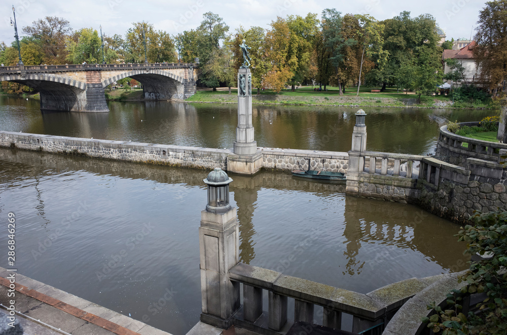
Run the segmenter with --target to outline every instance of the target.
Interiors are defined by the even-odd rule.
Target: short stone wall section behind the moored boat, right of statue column
[[[310,170],[347,173],[348,154],[346,152],[313,150],[259,148],[263,155],[263,168],[269,170]]]

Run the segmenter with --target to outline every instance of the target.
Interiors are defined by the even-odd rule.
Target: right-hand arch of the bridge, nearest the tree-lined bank
[[[139,69],[127,71],[102,81],[105,88],[115,81],[130,77],[143,87],[145,100],[185,100],[185,85],[188,79],[161,69]]]

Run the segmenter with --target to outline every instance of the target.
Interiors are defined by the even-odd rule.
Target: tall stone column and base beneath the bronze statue
[[[252,83],[247,67],[238,71],[238,127],[233,153],[228,155],[227,171],[252,175],[262,168],[262,154],[253,140]]]

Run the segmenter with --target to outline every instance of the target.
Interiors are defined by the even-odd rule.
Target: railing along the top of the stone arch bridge
[[[58,72],[58,71],[76,71],[87,69],[139,69],[139,68],[189,68],[198,67],[195,63],[148,63],[148,64],[65,64],[65,65],[30,65],[30,66],[3,66],[0,67],[0,73],[13,72]]]

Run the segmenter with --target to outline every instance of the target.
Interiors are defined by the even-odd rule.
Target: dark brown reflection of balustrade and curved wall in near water
[[[454,233],[453,224],[413,206],[347,196],[344,217],[344,256],[348,259],[346,272],[350,275],[359,274],[365,264],[357,260],[361,242],[375,241],[377,244],[411,249],[453,271],[458,260],[467,261],[462,255],[465,246],[449,240]],[[377,255],[374,260],[365,261],[386,258],[388,255]]]

